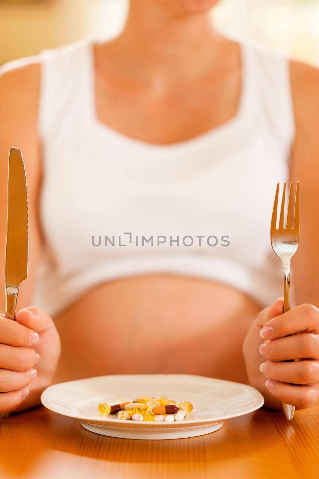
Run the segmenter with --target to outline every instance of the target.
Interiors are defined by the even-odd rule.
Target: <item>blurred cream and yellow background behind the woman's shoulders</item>
[[[128,0],[0,0],[0,64],[84,36],[113,36]],[[319,0],[222,0],[212,13],[229,36],[279,47],[319,65]]]

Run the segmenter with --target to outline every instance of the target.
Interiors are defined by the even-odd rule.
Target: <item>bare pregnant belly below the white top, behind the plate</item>
[[[187,373],[245,381],[242,342],[259,310],[241,292],[194,278],[100,285],[55,319],[62,343],[55,380]]]

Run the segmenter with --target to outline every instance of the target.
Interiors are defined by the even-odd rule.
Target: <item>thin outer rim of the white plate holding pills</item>
[[[42,392],[40,399],[41,399],[41,402],[42,402],[42,404],[44,405],[45,408],[49,409],[50,411],[56,412],[57,414],[61,414],[62,416],[66,416],[66,417],[75,419],[75,420],[80,421],[80,422],[89,422],[91,424],[104,424],[105,426],[110,426],[110,427],[113,427],[113,426],[115,426],[115,424],[117,424],[119,426],[118,419],[112,419],[110,417],[108,417],[107,422],[105,422],[106,421],[105,419],[93,419],[93,418],[89,418],[88,416],[80,416],[79,414],[72,414],[72,413],[68,413],[66,411],[65,412],[57,411],[54,408],[54,406],[52,406],[51,404],[48,404],[47,399],[48,399],[49,393],[52,390],[54,390],[55,388],[58,388],[62,385],[67,386],[67,385],[70,385],[70,384],[81,383],[83,381],[88,381],[88,380],[94,380],[94,379],[106,378],[106,377],[121,377],[121,376],[151,376],[152,378],[154,378],[154,376],[162,376],[162,377],[167,377],[167,376],[169,376],[169,377],[172,377],[172,376],[181,377],[181,376],[184,376],[184,377],[196,377],[196,378],[199,378],[199,379],[202,378],[202,379],[206,379],[206,380],[207,379],[208,380],[212,379],[214,381],[219,381],[221,383],[228,383],[228,384],[232,384],[232,385],[236,385],[236,386],[243,386],[245,388],[249,388],[255,394],[255,396],[259,399],[258,404],[256,406],[250,408],[247,411],[236,412],[236,413],[228,414],[228,415],[225,415],[225,416],[219,416],[217,418],[190,419],[190,420],[187,420],[185,422],[185,424],[189,424],[190,426],[192,424],[195,426],[196,424],[199,424],[199,423],[208,424],[208,423],[212,423],[212,422],[226,421],[228,419],[240,417],[240,416],[243,416],[245,414],[250,414],[251,412],[260,409],[264,405],[264,396],[261,394],[261,392],[258,391],[258,389],[253,388],[253,386],[250,386],[248,384],[237,383],[237,382],[234,382],[234,381],[228,381],[226,379],[219,379],[219,378],[214,378],[214,377],[209,377],[209,376],[201,376],[201,375],[196,375],[196,374],[174,374],[174,373],[173,374],[109,374],[109,375],[103,375],[103,376],[92,376],[92,377],[86,377],[86,378],[82,378],[82,379],[75,379],[75,380],[72,380],[72,381],[65,381],[65,382],[62,382],[62,383],[56,383],[56,384],[53,384],[51,386],[48,386]],[[141,427],[141,426],[143,426],[145,428],[145,425],[146,425],[146,424],[142,424],[142,422],[138,422],[138,421],[121,422],[121,424],[123,424],[123,425],[124,425],[124,423],[125,423],[125,426],[128,426],[128,427]],[[184,422],[179,422],[179,424],[181,424],[181,423],[184,423]],[[172,426],[176,425],[175,422],[163,422],[163,423],[161,423],[161,422],[148,422],[147,426],[154,427],[155,425],[158,426],[158,424],[165,424],[165,426],[168,426],[168,427],[172,427]],[[163,426],[161,426],[161,427],[163,427]]]

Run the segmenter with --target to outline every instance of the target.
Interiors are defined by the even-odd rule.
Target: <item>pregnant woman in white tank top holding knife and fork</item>
[[[278,409],[318,401],[319,72],[220,36],[216,3],[132,0],[111,41],[2,68],[0,251],[12,146],[30,251],[16,321],[0,318],[0,412],[114,373],[249,382]],[[283,314],[269,228],[290,180],[299,306]]]

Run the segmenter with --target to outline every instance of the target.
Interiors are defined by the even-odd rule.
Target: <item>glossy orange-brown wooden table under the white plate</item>
[[[44,407],[0,419],[0,478],[319,478],[319,405],[170,441],[100,436]]]

